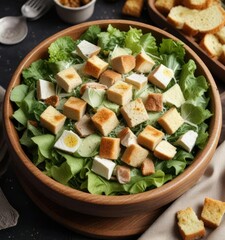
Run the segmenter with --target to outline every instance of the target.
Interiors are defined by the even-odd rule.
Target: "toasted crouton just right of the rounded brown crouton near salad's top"
[[[149,73],[155,62],[145,52],[141,52],[136,56],[136,66],[134,70],[139,73]]]

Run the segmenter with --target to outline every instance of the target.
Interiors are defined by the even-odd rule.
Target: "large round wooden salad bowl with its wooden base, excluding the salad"
[[[210,108],[213,116],[210,119],[210,136],[205,148],[198,152],[193,163],[182,174],[157,189],[125,196],[91,195],[64,186],[47,177],[31,162],[19,143],[17,131],[10,120],[13,114],[9,100],[10,91],[20,83],[24,68],[33,61],[47,56],[47,48],[53,41],[65,35],[74,39],[79,38],[89,26],[94,24],[98,24],[101,28],[112,24],[121,30],[128,30],[129,26],[132,26],[142,29],[143,32],[151,32],[157,39],[166,37],[178,40],[156,27],[126,20],[87,22],[49,37],[25,57],[12,77],[4,102],[5,133],[18,179],[28,195],[46,214],[65,226],[87,235],[126,237],[146,230],[165,205],[190,189],[202,176],[219,140],[222,125],[221,103],[219,92],[208,68],[194,51],[185,46],[187,57],[194,59],[197,63],[197,74],[204,75],[210,85]],[[173,216],[172,219],[174,219]]]

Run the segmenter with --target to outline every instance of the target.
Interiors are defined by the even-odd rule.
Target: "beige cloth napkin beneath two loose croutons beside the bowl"
[[[194,187],[174,201],[166,211],[142,234],[139,240],[176,240],[182,239],[177,227],[176,213],[192,207],[200,217],[205,197],[225,201],[225,141],[217,148],[204,175]],[[225,239],[225,216],[215,230],[206,228],[204,239]]]

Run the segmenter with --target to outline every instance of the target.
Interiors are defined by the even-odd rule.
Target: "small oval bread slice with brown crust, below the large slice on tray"
[[[219,58],[222,53],[222,44],[220,43],[219,39],[211,33],[206,34],[199,46],[210,56]]]

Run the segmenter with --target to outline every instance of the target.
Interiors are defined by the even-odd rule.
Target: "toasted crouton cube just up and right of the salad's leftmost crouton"
[[[87,103],[80,98],[70,97],[63,106],[63,114],[73,120],[80,120],[86,111]]]

